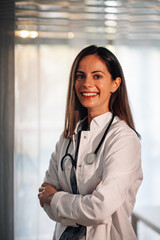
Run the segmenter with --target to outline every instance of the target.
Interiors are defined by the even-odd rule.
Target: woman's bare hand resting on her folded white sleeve
[[[58,191],[52,185],[49,183],[43,183],[39,188],[38,194],[41,207],[44,206],[44,203],[50,205],[52,197],[56,192]]]

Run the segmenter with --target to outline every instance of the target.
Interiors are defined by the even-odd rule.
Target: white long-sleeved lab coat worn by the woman
[[[52,154],[45,181],[60,190],[44,206],[56,221],[54,240],[58,240],[66,226],[87,226],[86,240],[135,240],[130,223],[137,190],[142,182],[141,150],[136,133],[118,117],[99,149],[96,160],[88,165],[86,156],[94,152],[112,117],[111,112],[95,117],[89,131],[82,131],[77,159],[76,179],[79,195],[71,193],[70,161],[61,159],[68,139],[61,135]],[[80,124],[80,123],[79,123]],[[77,131],[69,147],[74,156]]]

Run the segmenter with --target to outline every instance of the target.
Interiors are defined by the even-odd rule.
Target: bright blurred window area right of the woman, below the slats
[[[141,134],[143,184],[137,205],[159,205],[160,192],[160,48],[117,47],[137,131]]]

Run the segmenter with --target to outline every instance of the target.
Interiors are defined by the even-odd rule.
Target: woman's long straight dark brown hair
[[[121,78],[121,84],[119,88],[117,91],[112,93],[110,97],[109,110],[124,120],[129,127],[135,130],[128,101],[125,78],[118,59],[107,48],[91,45],[84,48],[77,55],[71,67],[67,95],[64,137],[72,138],[77,122],[88,115],[87,108],[83,107],[79,102],[74,88],[79,63],[84,57],[88,55],[97,55],[101,58],[101,60],[106,64],[106,67],[110,72],[113,81],[117,77]]]

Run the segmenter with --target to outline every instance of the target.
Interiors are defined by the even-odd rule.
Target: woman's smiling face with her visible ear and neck
[[[120,78],[112,80],[105,63],[97,55],[84,57],[76,73],[75,90],[91,118],[109,111],[109,100]]]

